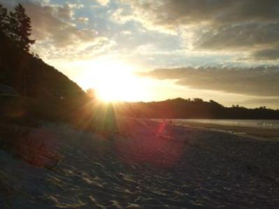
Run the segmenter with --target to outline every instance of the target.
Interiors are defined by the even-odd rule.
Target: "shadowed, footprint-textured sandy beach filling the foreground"
[[[0,151],[0,208],[278,208],[279,142],[148,120],[47,124],[52,170]]]

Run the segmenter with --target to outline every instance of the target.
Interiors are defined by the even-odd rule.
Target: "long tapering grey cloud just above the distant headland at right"
[[[250,96],[279,96],[279,67],[219,68],[192,67],[155,69],[138,73],[159,80],[176,80],[192,89],[213,90]]]

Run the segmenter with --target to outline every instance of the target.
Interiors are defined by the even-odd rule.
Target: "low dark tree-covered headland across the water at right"
[[[216,101],[203,101],[198,98],[127,103],[122,112],[148,118],[279,119],[279,110],[266,107],[224,107]]]

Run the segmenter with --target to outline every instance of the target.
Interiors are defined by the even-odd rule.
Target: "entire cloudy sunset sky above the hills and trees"
[[[104,100],[279,108],[278,0],[22,3],[31,50]]]

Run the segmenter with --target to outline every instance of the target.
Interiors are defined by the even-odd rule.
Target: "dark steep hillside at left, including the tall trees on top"
[[[0,85],[19,96],[0,95],[1,120],[70,122],[84,103],[85,92],[75,82],[29,52],[31,20],[21,4],[8,11],[0,4]],[[7,89],[7,87],[6,87]],[[5,93],[8,94],[8,93]],[[27,124],[27,120],[22,121]]]

